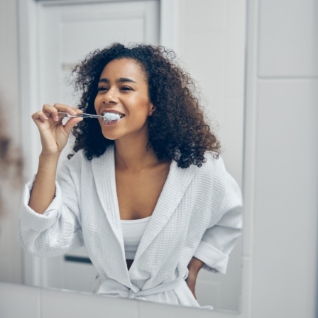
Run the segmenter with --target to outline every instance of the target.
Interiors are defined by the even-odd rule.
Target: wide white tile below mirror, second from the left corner
[[[138,302],[84,292],[41,290],[41,318],[137,318]]]

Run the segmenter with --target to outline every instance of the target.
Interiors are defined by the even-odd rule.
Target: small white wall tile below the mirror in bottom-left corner
[[[1,318],[40,318],[38,287],[0,283]]]

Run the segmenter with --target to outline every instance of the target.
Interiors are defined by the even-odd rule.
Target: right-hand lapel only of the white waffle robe
[[[180,203],[187,187],[189,186],[196,166],[190,165],[189,168],[182,169],[177,167],[177,163],[172,161],[170,165],[170,172],[168,178],[163,187],[163,191],[160,194],[158,202],[153,211],[153,215],[149,221],[141,243],[138,246],[138,250],[135,256],[135,263],[137,258],[146,251],[146,248],[160,233],[165,224],[170,219],[170,216],[175,212],[177,205]]]

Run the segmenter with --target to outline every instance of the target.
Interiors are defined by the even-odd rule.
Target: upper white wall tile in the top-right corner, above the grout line
[[[259,75],[318,76],[315,0],[260,0]]]

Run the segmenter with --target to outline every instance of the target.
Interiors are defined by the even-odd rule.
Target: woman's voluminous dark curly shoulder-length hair
[[[178,167],[202,166],[205,151],[219,155],[220,143],[204,120],[202,107],[195,94],[190,75],[177,65],[172,50],[163,46],[114,43],[102,50],[94,50],[73,70],[75,89],[82,92],[79,109],[96,114],[99,77],[111,60],[136,60],[148,79],[148,95],[155,106],[148,118],[149,141],[159,160],[175,160]],[[73,129],[77,152],[84,149],[88,160],[102,155],[114,141],[104,138],[97,121],[81,121]],[[72,155],[69,155],[69,158]]]

